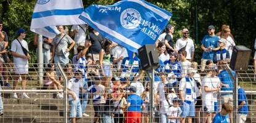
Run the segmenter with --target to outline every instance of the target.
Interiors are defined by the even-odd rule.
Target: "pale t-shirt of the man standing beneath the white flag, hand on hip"
[[[54,46],[55,46],[55,55],[60,55],[60,56],[64,55],[63,52],[65,52],[66,49],[68,49],[68,44],[71,44],[73,41],[73,39],[71,39],[70,36],[68,36],[66,34],[64,37],[63,36],[64,35],[56,36],[53,39]],[[60,39],[62,39],[62,41],[60,41]],[[60,43],[58,43],[58,42],[60,42]],[[58,46],[57,46],[57,44],[58,44]]]

